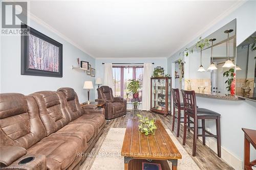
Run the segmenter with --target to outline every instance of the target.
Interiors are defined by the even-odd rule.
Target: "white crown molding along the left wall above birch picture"
[[[77,43],[75,43],[74,41],[72,41],[71,39],[69,39],[68,37],[66,37],[65,35],[63,35],[62,33],[60,33],[59,31],[57,31],[56,29],[52,28],[50,25],[48,25],[48,23],[46,23],[45,21],[43,21],[42,19],[38,18],[37,16],[35,16],[34,14],[32,14],[29,10],[28,10],[28,17],[30,19],[32,19],[33,21],[39,23],[39,25],[45,27],[46,29],[48,29],[49,31],[53,32],[54,34],[56,34],[57,36],[59,36],[60,38],[66,40],[67,42],[71,43],[72,45],[74,45],[75,47],[77,47],[79,50],[81,50],[82,52],[86,53],[87,55],[89,55],[90,57],[94,58],[95,57],[93,55],[91,55],[90,53],[88,53],[87,51],[84,50],[83,47],[81,47],[80,45],[78,45]]]

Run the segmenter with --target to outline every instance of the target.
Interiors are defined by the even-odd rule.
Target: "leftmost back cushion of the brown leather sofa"
[[[0,145],[28,149],[46,136],[38,108],[31,96],[0,94]]]

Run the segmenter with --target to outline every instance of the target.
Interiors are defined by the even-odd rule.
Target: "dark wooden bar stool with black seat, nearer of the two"
[[[183,132],[183,145],[186,143],[186,130],[190,129],[194,132],[193,137],[193,156],[196,156],[197,149],[197,137],[203,137],[203,145],[205,145],[205,137],[215,137],[217,139],[217,151],[218,157],[221,157],[221,133],[220,133],[220,114],[212,110],[197,108],[196,94],[195,91],[181,90],[183,103],[184,103],[184,132]],[[187,125],[186,117],[189,116],[194,119],[194,127]],[[198,120],[202,120],[202,127],[198,127]],[[205,119],[216,120],[216,132],[217,135],[210,133],[205,130]],[[198,134],[198,129],[202,129],[202,134]],[[207,133],[207,134],[205,134]]]

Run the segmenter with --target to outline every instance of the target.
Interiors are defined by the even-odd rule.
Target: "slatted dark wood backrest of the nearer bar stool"
[[[182,92],[182,98],[184,103],[184,111],[187,112],[188,115],[191,114],[191,116],[196,117],[197,101],[196,101],[195,91],[181,90],[181,92]]]

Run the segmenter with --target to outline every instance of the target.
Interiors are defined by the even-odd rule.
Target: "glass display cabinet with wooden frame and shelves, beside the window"
[[[151,112],[161,113],[164,116],[172,113],[172,78],[151,78]]]

